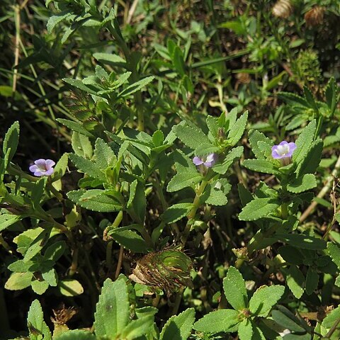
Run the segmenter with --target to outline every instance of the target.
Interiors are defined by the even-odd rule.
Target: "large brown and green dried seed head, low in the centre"
[[[130,279],[165,290],[169,294],[192,285],[192,267],[191,259],[183,251],[164,249],[149,253],[138,260]]]

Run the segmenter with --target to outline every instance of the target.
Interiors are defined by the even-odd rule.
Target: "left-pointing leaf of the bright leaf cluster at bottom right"
[[[232,332],[237,331],[239,321],[239,312],[236,310],[215,310],[195,322],[193,328],[206,333]]]

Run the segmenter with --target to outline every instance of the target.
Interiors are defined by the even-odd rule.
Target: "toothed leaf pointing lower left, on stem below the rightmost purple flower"
[[[251,200],[239,213],[241,221],[256,221],[266,217],[278,209],[280,202],[275,198],[255,198]]]

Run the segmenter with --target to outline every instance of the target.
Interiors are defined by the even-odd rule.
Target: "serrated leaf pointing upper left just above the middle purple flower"
[[[175,132],[175,135],[191,149],[196,149],[196,147],[201,144],[211,145],[209,138],[202,130],[194,125],[184,125],[182,122],[181,124],[175,125],[172,130]]]

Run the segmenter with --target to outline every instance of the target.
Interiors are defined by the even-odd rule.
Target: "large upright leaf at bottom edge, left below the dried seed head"
[[[130,319],[128,285],[120,276],[114,282],[107,278],[103,284],[94,314],[96,336],[115,339]]]

